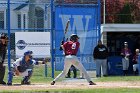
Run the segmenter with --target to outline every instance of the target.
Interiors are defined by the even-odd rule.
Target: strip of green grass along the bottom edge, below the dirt
[[[82,90],[73,90],[73,89],[59,89],[59,90],[32,90],[32,91],[0,91],[2,93],[140,93],[140,89],[135,89],[135,88],[100,88],[100,89],[82,89]]]

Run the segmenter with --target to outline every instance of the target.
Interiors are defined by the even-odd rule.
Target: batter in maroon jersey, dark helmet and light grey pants
[[[79,62],[78,58],[76,57],[76,54],[78,52],[80,43],[78,42],[79,37],[76,34],[72,34],[70,36],[70,41],[65,42],[63,45],[61,45],[62,49],[65,53],[65,59],[64,59],[64,69],[63,71],[52,81],[51,85],[55,84],[55,81],[58,80],[60,77],[65,77],[65,75],[68,73],[71,65],[78,68],[80,71],[83,72],[85,78],[89,82],[89,85],[96,85],[94,82],[91,81],[89,75],[87,74],[85,68],[83,65]]]

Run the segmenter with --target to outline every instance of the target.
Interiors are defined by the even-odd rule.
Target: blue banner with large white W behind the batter
[[[67,1],[67,0],[66,0]],[[71,2],[70,2],[71,1]],[[65,36],[77,34],[80,39],[78,58],[87,70],[94,70],[93,49],[100,37],[100,1],[98,0],[69,0],[55,3],[55,69],[62,70],[64,54],[60,51],[60,43]],[[68,32],[64,35],[67,21],[70,20]]]

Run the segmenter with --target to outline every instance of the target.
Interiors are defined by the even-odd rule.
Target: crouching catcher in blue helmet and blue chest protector
[[[32,59],[32,51],[27,51],[24,53],[24,56],[17,59],[12,65],[12,71],[9,72],[11,76],[8,77],[7,85],[12,85],[12,79],[14,75],[22,76],[23,80],[21,81],[22,85],[29,85],[29,79],[33,73],[34,64],[36,61]]]

